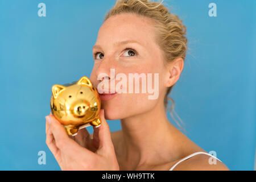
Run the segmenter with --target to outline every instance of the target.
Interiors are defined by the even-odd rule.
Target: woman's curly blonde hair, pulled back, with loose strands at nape
[[[180,20],[177,15],[170,13],[162,2],[150,2],[148,0],[117,0],[114,7],[106,14],[104,22],[110,18],[110,16],[121,13],[132,13],[151,18],[154,20],[154,26],[156,27],[156,42],[163,50],[163,57],[166,63],[170,63],[178,57],[185,60],[187,51],[187,38],[185,34],[187,28],[182,23],[182,20]],[[174,111],[174,100],[168,97],[168,94],[173,87],[174,85],[167,89],[164,97],[164,107],[166,110],[168,100],[172,102],[172,118],[174,118],[172,115],[172,111]],[[177,117],[179,118],[179,116]],[[174,120],[177,125],[180,126],[175,118]]]

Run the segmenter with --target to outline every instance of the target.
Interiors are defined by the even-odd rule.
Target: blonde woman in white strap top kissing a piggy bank
[[[81,129],[75,137],[68,137],[48,115],[46,143],[61,169],[228,170],[219,160],[209,163],[211,156],[166,116],[167,95],[183,70],[185,33],[181,20],[161,3],[117,1],[98,32],[90,80],[96,88],[102,81],[115,80],[110,69],[127,77],[129,73],[158,73],[154,80],[158,81],[158,97],[150,100],[150,94],[141,92],[110,94],[103,88],[102,124],[93,126],[92,136]],[[106,77],[98,80],[104,73]],[[120,119],[122,130],[110,133],[105,118]]]

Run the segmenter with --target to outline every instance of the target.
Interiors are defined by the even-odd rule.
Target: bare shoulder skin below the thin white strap
[[[198,154],[177,164],[174,171],[229,171],[229,168],[209,155]]]

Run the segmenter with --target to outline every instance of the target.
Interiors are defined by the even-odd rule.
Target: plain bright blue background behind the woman
[[[46,17],[38,16],[40,2],[46,3]],[[211,2],[217,17],[208,15]],[[255,2],[164,1],[188,30],[184,72],[170,94],[175,111],[185,134],[204,150],[216,151],[232,170],[254,168]],[[90,75],[92,47],[113,5],[0,0],[0,169],[60,169],[45,143],[51,86]],[[119,121],[109,125],[121,129]],[[46,165],[38,164],[39,151],[46,151]]]

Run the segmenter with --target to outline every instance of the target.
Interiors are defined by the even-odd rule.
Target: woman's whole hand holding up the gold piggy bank
[[[119,170],[109,125],[100,111],[101,126],[93,126],[93,139],[84,128],[75,137],[52,114],[46,116],[46,144],[61,170]]]

